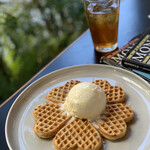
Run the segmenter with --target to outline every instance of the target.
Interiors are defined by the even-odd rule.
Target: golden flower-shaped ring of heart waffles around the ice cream
[[[123,137],[127,132],[126,123],[134,117],[132,109],[120,103],[125,101],[123,89],[111,86],[106,80],[93,82],[103,88],[107,97],[102,122],[96,122],[99,130],[88,120],[67,116],[61,110],[60,103],[64,103],[70,89],[78,83],[80,81],[71,80],[64,86],[53,88],[46,97],[48,104],[39,105],[33,111],[34,133],[42,138],[55,135],[53,145],[56,150],[99,150],[102,146],[101,135],[109,140]]]

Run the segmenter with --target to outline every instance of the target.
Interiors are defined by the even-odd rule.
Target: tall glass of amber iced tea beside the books
[[[120,0],[83,0],[94,48],[110,52],[117,48]]]

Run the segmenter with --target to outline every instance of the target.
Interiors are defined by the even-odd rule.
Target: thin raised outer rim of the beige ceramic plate
[[[9,149],[13,149],[13,147],[11,146],[12,144],[10,144],[9,142],[9,138],[8,138],[8,132],[7,132],[7,129],[8,129],[8,121],[9,121],[9,117],[10,117],[10,113],[11,111],[13,110],[13,107],[14,105],[17,103],[17,101],[19,100],[19,98],[21,97],[21,95],[26,91],[28,90],[29,88],[31,88],[34,84],[36,84],[37,82],[39,82],[40,80],[42,80],[43,78],[46,78],[47,76],[49,75],[52,75],[52,74],[55,74],[55,73],[58,73],[58,72],[61,72],[61,71],[65,71],[65,70],[69,70],[69,69],[74,69],[74,68],[80,68],[80,67],[93,67],[93,66],[96,66],[96,67],[106,67],[106,68],[111,68],[111,69],[115,69],[115,70],[119,70],[119,71],[123,71],[123,72],[128,72],[129,74],[135,76],[136,78],[138,78],[139,80],[142,81],[142,83],[144,83],[146,86],[148,86],[150,88],[150,84],[145,81],[143,78],[141,78],[140,76],[138,76],[137,74],[131,72],[131,71],[128,71],[128,70],[125,70],[123,68],[118,68],[116,66],[111,66],[111,65],[105,65],[105,64],[83,64],[83,65],[75,65],[75,66],[69,66],[69,67],[64,67],[64,68],[61,68],[61,69],[58,69],[58,70],[55,70],[55,71],[52,71],[50,73],[47,73],[45,74],[44,76],[38,78],[37,80],[35,80],[34,82],[32,82],[30,85],[28,85],[16,98],[16,100],[13,102],[13,104],[11,105],[8,113],[7,113],[7,117],[6,117],[6,121],[5,121],[5,139],[6,139],[6,143],[8,145],[8,148]]]

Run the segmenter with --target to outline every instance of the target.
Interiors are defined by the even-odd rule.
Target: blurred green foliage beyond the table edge
[[[82,1],[0,2],[0,102],[86,29]]]

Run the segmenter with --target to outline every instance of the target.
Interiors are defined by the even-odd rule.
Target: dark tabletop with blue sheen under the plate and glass
[[[150,26],[149,0],[123,0],[120,7],[119,48]],[[17,96],[32,82],[54,70],[64,67],[99,63],[100,55],[93,49],[90,32],[86,31],[61,54],[47,64],[0,106],[0,150],[7,150],[5,120]],[[15,119],[15,118],[14,118]]]

